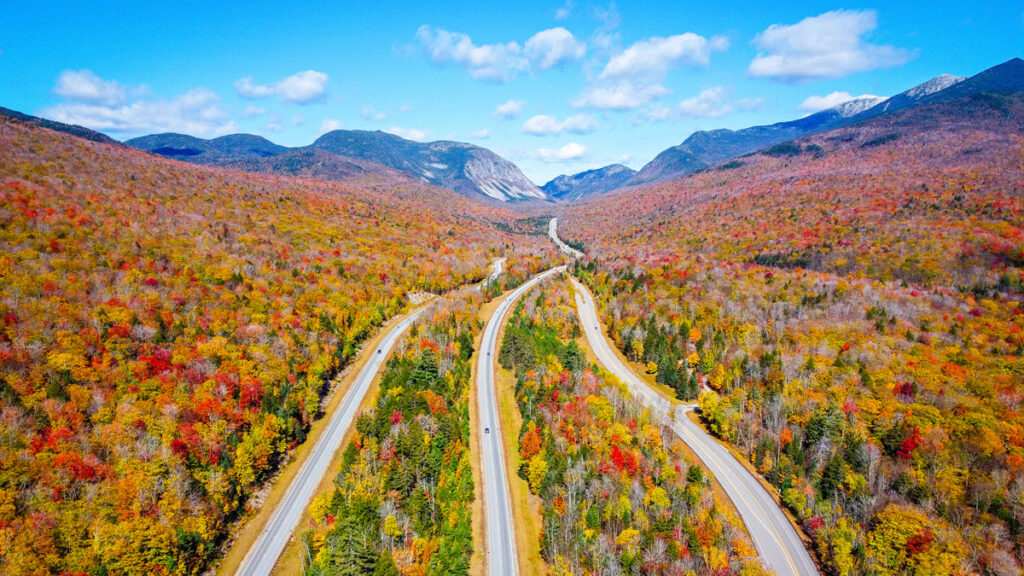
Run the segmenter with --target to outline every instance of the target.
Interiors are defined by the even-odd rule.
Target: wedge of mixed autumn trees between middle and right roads
[[[671,428],[587,366],[572,306],[564,277],[541,284],[515,308],[499,355],[515,370],[518,471],[543,502],[551,573],[762,574],[738,519]]]

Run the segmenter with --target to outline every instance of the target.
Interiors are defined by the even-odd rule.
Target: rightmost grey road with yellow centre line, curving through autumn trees
[[[608,371],[626,382],[638,400],[655,412],[668,416],[676,410],[675,418],[667,417],[666,421],[725,489],[725,493],[739,510],[765,565],[778,576],[817,576],[818,570],[803,541],[768,491],[731,452],[686,416],[686,412],[694,408],[693,405],[673,408],[672,403],[651,389],[618,359],[601,332],[590,291],[575,279],[572,280],[572,285],[575,288],[580,321],[598,360]]]

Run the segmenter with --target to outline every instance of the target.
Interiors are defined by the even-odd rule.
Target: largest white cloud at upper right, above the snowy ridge
[[[874,10],[835,10],[791,26],[772,25],[754,39],[760,51],[746,73],[803,83],[893,68],[913,58],[908,50],[865,42],[862,37],[877,27]]]

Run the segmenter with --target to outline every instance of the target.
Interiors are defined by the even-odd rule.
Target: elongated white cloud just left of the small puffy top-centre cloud
[[[477,46],[466,34],[427,25],[416,32],[416,39],[427,49],[430,59],[437,64],[454,61],[477,80],[508,82],[529,68],[522,48],[515,42]]]

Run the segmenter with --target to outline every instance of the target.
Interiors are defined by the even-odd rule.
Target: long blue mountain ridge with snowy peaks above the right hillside
[[[874,118],[925,102],[986,91],[1024,89],[1024,60],[1013,58],[971,78],[943,74],[890,98],[849,100],[799,120],[741,130],[694,132],[658,154],[626,186],[663,182],[771,146]]]

